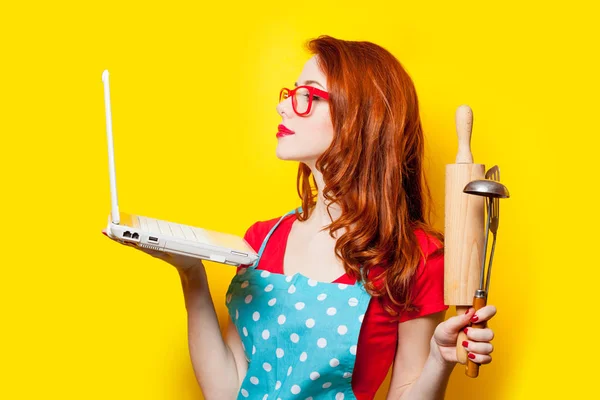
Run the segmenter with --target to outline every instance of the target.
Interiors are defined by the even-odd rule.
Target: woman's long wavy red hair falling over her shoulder
[[[370,42],[320,36],[307,43],[327,76],[334,137],[319,157],[323,196],[341,217],[326,229],[347,232],[335,252],[346,272],[375,297],[388,296],[394,309],[415,310],[411,288],[421,258],[415,230],[443,234],[429,223],[431,193],[423,171],[424,139],[414,84],[400,62]],[[297,189],[305,221],[316,203],[316,182],[300,163]],[[333,236],[332,236],[333,237]],[[369,272],[382,266],[383,272]],[[378,281],[380,284],[375,284]]]

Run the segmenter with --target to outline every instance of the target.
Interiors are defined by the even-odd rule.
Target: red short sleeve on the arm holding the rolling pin
[[[405,312],[400,317],[400,322],[423,317],[439,311],[447,310],[444,304],[444,255],[430,257],[440,247],[437,239],[417,233],[417,238],[427,254],[427,261],[422,259],[417,269],[413,287],[413,305],[418,311]]]

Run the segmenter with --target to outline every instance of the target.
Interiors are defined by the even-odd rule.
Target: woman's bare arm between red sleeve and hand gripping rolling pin
[[[398,347],[388,399],[444,398],[454,365],[444,363],[436,356],[431,341],[445,314],[442,311],[398,324]]]

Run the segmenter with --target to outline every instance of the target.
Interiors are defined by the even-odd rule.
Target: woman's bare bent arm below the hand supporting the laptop
[[[194,373],[205,399],[235,399],[248,363],[235,325],[223,340],[204,266],[178,270],[188,316],[188,342]]]

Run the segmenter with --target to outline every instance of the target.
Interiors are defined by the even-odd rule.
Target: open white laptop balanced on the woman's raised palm
[[[108,237],[121,243],[129,242],[147,249],[222,264],[235,266],[252,264],[258,255],[240,236],[119,212],[107,70],[102,73],[102,82],[104,83],[111,197],[111,213],[106,228]]]

